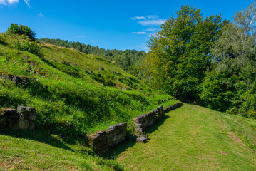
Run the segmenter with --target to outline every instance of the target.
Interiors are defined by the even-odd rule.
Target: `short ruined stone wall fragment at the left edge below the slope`
[[[34,130],[36,109],[19,105],[16,109],[3,109],[0,113],[0,127],[16,130]]]

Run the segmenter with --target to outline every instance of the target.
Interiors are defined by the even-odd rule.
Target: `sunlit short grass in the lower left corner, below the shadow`
[[[83,150],[0,134],[0,170],[123,170],[115,161]]]

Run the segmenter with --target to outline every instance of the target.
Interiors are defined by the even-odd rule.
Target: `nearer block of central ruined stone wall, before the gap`
[[[126,140],[127,123],[111,125],[108,130],[99,130],[97,133],[89,135],[88,138],[93,146],[93,150],[99,155],[107,152],[111,147]]]

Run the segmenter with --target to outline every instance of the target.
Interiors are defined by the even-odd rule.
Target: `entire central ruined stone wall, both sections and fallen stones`
[[[145,140],[148,139],[148,135],[142,135],[145,129],[158,122],[165,113],[168,113],[175,108],[179,108],[182,105],[183,103],[179,102],[170,105],[165,109],[163,109],[163,106],[159,106],[156,110],[153,110],[150,113],[139,115],[137,118],[134,118],[133,122],[135,123],[136,130],[139,134],[131,135],[129,140],[132,142],[145,142]],[[111,125],[108,130],[98,130],[95,134],[88,135],[93,150],[99,155],[103,155],[111,149],[111,147],[115,147],[118,143],[126,140],[126,129],[127,123],[118,123],[116,125]],[[137,136],[140,137],[137,138]]]

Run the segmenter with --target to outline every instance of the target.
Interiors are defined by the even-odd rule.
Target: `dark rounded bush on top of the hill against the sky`
[[[21,25],[21,24],[12,24],[7,28],[7,34],[19,34],[19,35],[26,35],[32,41],[35,40],[36,33],[29,28],[29,26]]]

